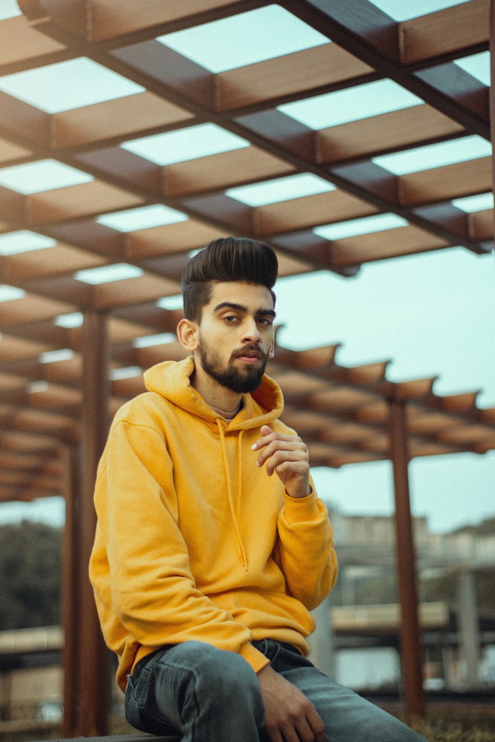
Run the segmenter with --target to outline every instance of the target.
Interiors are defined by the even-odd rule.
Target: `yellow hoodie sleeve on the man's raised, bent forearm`
[[[278,516],[275,558],[289,593],[312,611],[327,597],[337,579],[332,525],[324,502],[314,490],[299,499],[284,493],[284,501]]]

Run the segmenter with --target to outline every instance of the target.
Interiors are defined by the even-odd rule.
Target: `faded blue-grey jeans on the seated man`
[[[272,669],[311,700],[326,742],[421,742],[378,706],[333,683],[288,644],[253,642]],[[266,742],[263,699],[252,667],[235,652],[191,641],[148,655],[128,677],[125,717],[142,732],[177,742]],[[423,741],[424,742],[424,741]]]

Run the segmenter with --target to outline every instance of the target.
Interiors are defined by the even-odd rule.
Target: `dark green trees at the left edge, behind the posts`
[[[60,623],[61,549],[60,528],[0,526],[0,629]]]

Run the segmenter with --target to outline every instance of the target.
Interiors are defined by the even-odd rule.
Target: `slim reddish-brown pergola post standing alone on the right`
[[[401,665],[406,711],[424,715],[422,643],[418,619],[418,588],[413,524],[410,513],[407,475],[407,427],[405,403],[390,400],[390,456],[396,498],[396,558],[401,603]]]

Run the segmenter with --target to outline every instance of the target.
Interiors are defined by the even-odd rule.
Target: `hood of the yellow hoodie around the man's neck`
[[[164,361],[145,371],[146,389],[160,394],[186,412],[217,427],[220,418],[191,386],[194,358],[183,361]],[[278,384],[263,375],[260,387],[251,394],[243,394],[242,406],[235,418],[228,423],[229,430],[249,430],[269,425],[283,410],[283,395]]]

